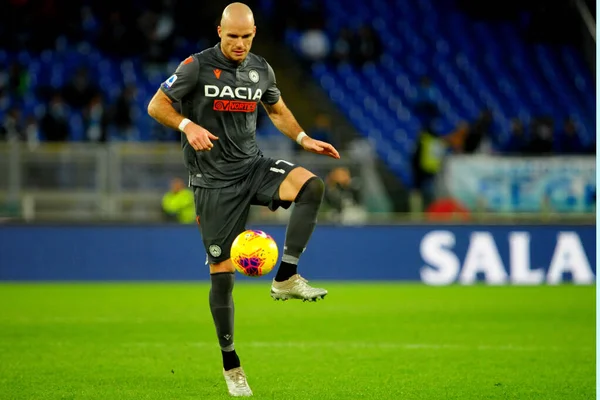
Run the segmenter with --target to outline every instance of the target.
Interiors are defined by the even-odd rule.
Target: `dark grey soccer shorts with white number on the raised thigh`
[[[250,167],[244,180],[232,186],[194,187],[196,215],[209,264],[229,258],[231,244],[246,229],[251,205],[266,206],[271,211],[291,206],[291,201],[279,199],[279,185],[296,167],[285,160],[263,157]]]

